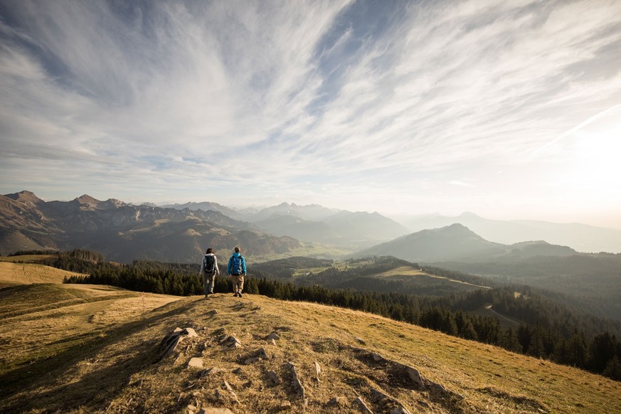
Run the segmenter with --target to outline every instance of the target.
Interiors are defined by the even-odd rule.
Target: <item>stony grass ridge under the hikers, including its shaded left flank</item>
[[[67,310],[88,306],[92,304]],[[60,310],[63,308],[51,311],[49,317],[54,319],[54,312]],[[213,310],[218,312],[215,316],[210,313]],[[178,358],[155,363],[159,341],[175,327],[193,327],[200,337],[188,341]],[[219,327],[235,334],[243,347],[225,349],[215,334]],[[272,330],[281,336],[275,345],[263,339]],[[373,387],[398,398],[410,412],[526,413],[543,409],[621,413],[621,383],[373,314],[321,304],[216,294],[207,301],[181,299],[139,319],[110,324],[94,335],[87,336],[84,330],[73,332],[68,326],[64,336],[43,346],[55,356],[41,355],[8,373],[0,371],[0,383],[9,387],[0,391],[1,406],[8,412],[175,412],[196,403],[199,407],[227,406],[234,412],[275,412],[282,400],[290,400],[293,412],[343,413],[349,410],[329,405],[330,398],[353,400],[360,395],[373,412],[384,412],[371,398],[369,389]],[[52,349],[68,344],[63,342],[67,339],[70,345]],[[15,349],[18,344],[3,344],[4,355],[11,354],[7,346]],[[244,363],[261,347],[269,359]],[[352,351],[354,347],[407,363],[464,398],[446,400],[394,382],[382,366]],[[203,358],[206,368],[216,366],[225,371],[198,379],[197,371],[186,368],[195,356]],[[287,361],[294,363],[302,378],[307,403],[295,398],[288,385],[282,368]],[[322,367],[320,381],[312,381],[317,375],[314,361]],[[268,370],[277,372],[285,383],[274,386],[267,381]],[[51,375],[41,376],[41,372]],[[137,381],[140,386],[127,386]],[[216,398],[215,391],[222,390],[223,381],[233,387],[239,404]],[[351,412],[355,410],[351,408]]]

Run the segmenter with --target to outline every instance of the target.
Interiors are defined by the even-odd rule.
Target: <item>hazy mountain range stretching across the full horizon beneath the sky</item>
[[[412,227],[424,223],[429,227],[411,232]],[[420,262],[473,262],[573,255],[590,250],[550,240],[575,240],[583,235],[585,245],[598,234],[602,245],[609,247],[605,250],[621,250],[621,231],[580,224],[492,221],[472,213],[458,218],[428,216],[406,224],[409,227],[376,212],[318,205],[281,203],[238,211],[210,202],[136,206],[87,195],[72,201],[43,201],[30,191],[21,191],[0,196],[0,253],[86,248],[119,262],[194,262],[206,246],[230,251],[241,245],[245,255],[259,260],[299,254],[304,243],[310,242],[327,246],[324,254],[329,246],[338,246],[348,257],[358,252],[356,255],[394,255]],[[538,232],[549,238],[535,238]],[[505,244],[499,238],[520,241]]]

